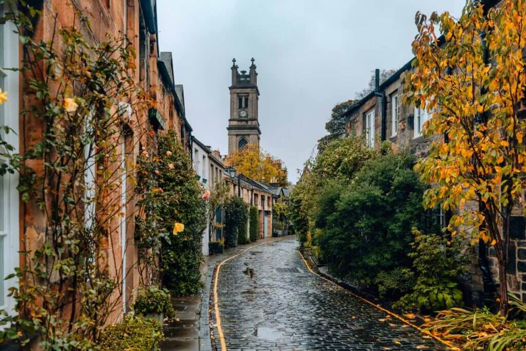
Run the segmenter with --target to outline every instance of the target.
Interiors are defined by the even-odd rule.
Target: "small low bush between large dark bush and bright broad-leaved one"
[[[399,299],[409,293],[414,285],[414,274],[409,268],[397,267],[388,272],[382,270],[375,278],[380,297]]]

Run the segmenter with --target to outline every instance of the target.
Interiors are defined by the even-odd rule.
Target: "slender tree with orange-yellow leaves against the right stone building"
[[[423,134],[435,137],[416,165],[433,184],[424,205],[456,213],[451,235],[494,247],[499,263],[500,311],[508,310],[506,266],[513,206],[522,206],[526,124],[523,48],[526,4],[504,0],[484,9],[468,1],[462,16],[417,13],[414,72],[404,103],[432,112]],[[438,38],[435,27],[444,34]],[[443,136],[443,137],[442,137]]]

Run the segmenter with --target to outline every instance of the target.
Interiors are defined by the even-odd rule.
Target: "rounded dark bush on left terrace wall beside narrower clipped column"
[[[225,202],[225,247],[247,242],[248,205],[242,198],[232,196]]]

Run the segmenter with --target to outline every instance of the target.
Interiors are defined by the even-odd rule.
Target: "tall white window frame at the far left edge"
[[[3,7],[0,5],[0,14],[3,14]],[[4,25],[0,34],[0,45],[3,45],[3,65],[2,67],[18,67],[18,47],[19,41],[18,36],[14,31],[16,30],[15,25],[12,22],[7,22]],[[12,132],[2,134],[5,141],[14,147],[11,153],[18,153],[19,139],[18,139],[18,116],[19,116],[19,77],[18,72],[4,70],[0,67],[0,74],[4,78],[4,89],[8,93],[9,101],[4,103],[0,108],[3,108],[4,112],[4,123],[5,125],[13,129]],[[5,159],[2,161],[6,161]],[[0,305],[0,309],[4,309],[7,313],[15,314],[15,301],[13,297],[7,296],[9,288],[18,286],[18,279],[12,278],[4,280],[5,276],[14,273],[15,267],[19,266],[19,200],[18,191],[16,186],[18,185],[18,175],[7,173],[0,178],[4,187],[4,196],[2,197],[2,205],[4,207],[3,219],[4,219],[4,231],[0,232],[0,236],[3,237],[3,252],[2,252],[2,268],[3,276],[2,279],[3,289],[0,294],[3,296],[3,304]],[[0,258],[2,258],[0,257]]]

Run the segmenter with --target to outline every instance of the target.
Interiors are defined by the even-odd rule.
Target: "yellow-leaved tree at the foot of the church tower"
[[[262,151],[255,144],[248,144],[232,154],[230,164],[238,173],[249,178],[265,180],[269,183],[276,180],[281,186],[288,184],[286,173],[281,169],[276,158]]]

